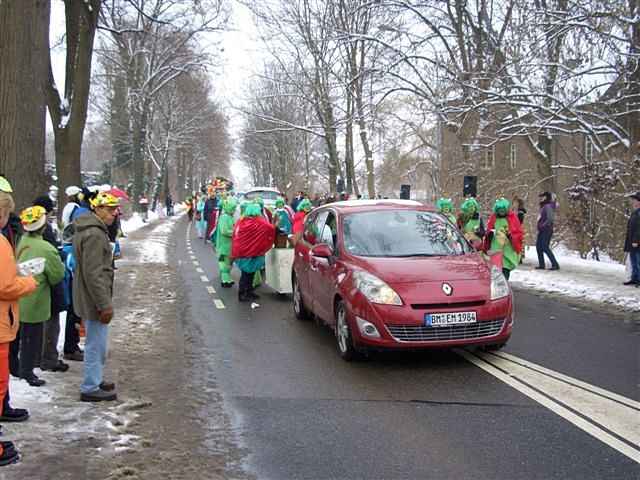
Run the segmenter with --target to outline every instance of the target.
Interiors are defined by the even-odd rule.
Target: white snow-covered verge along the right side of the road
[[[516,288],[640,311],[640,288],[622,284],[628,280],[624,265],[607,258],[600,262],[585,260],[562,246],[554,249],[554,255],[560,270],[535,270],[536,249],[528,247],[524,264],[511,273],[511,284]]]

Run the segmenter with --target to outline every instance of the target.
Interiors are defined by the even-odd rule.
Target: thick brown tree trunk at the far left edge
[[[47,191],[45,93],[49,0],[0,1],[0,173],[17,209]]]

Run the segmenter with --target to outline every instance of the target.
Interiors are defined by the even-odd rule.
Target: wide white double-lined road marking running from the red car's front
[[[553,377],[549,373],[541,373],[543,367],[537,365],[536,370],[540,371],[527,368],[523,366],[523,361],[517,357],[511,356],[514,360],[517,359],[518,363],[515,363],[502,356],[486,353],[478,353],[476,356],[465,350],[456,350],[456,352],[589,435],[640,463],[640,449],[632,447],[604,430],[606,428],[634,446],[640,447],[638,411],[627,406],[629,401],[633,402],[632,400],[625,399],[626,403],[621,404],[611,399],[615,395],[611,392],[607,392],[607,396],[603,397],[594,393],[593,390],[598,387],[589,386],[589,389],[585,389],[577,386],[578,383],[583,382],[549,369],[544,370],[553,373]],[[559,380],[558,378],[561,376],[570,381]],[[602,389],[598,388],[598,390]],[[574,412],[578,412],[580,415]]]

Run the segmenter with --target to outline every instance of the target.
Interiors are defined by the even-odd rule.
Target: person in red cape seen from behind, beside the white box
[[[262,216],[260,205],[247,205],[233,229],[231,244],[231,257],[240,269],[238,301],[250,302],[259,298],[253,291],[253,277],[264,268],[264,256],[273,247],[275,234],[275,226]]]

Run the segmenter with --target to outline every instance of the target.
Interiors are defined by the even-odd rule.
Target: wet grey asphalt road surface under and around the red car
[[[190,321],[207,352],[202,368],[236,422],[249,476],[640,478],[638,463],[454,352],[342,361],[332,332],[296,320],[288,296],[263,287],[260,308],[238,304],[236,287],[220,288],[210,246],[189,231],[194,265],[187,231],[181,220],[176,259]],[[640,319],[526,292],[516,293],[516,309],[506,352],[639,399]],[[630,421],[638,418],[640,412]]]

